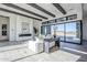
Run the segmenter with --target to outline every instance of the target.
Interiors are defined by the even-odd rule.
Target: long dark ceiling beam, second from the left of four
[[[42,18],[42,19],[47,19],[47,18],[45,18],[45,17],[43,17],[43,15],[40,15],[40,14],[37,14],[37,13],[34,13],[34,12],[32,12],[32,11],[29,11],[29,10],[26,10],[26,9],[23,9],[23,8],[21,8],[21,7],[18,7],[18,6],[15,6],[15,4],[12,4],[12,3],[2,3],[2,4],[8,6],[8,7],[11,7],[11,8],[14,8],[14,9],[20,10],[20,11],[28,12],[28,13],[30,13],[30,14],[40,17],[40,18]]]

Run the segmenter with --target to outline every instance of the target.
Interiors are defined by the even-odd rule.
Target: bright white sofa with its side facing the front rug
[[[35,37],[35,41],[29,41],[29,48],[35,53],[43,52],[43,41]]]

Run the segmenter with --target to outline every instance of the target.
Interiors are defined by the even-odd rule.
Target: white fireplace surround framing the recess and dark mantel
[[[24,17],[18,17],[17,19],[17,41],[22,41],[22,40],[29,40],[31,39],[31,36],[19,36],[19,34],[22,34],[22,22],[26,22],[29,23],[29,30],[30,30],[30,34],[33,34],[32,33],[32,29],[33,29],[33,20],[32,19],[29,19],[29,18],[24,18]]]

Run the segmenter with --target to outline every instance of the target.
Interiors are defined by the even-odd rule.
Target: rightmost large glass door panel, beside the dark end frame
[[[65,41],[80,43],[80,23],[65,23]]]

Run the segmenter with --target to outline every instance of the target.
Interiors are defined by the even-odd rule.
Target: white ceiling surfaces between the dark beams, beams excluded
[[[48,19],[52,19],[53,17],[31,7],[31,6],[28,6],[25,3],[13,3],[18,7],[21,7],[23,9],[26,9],[26,10],[30,10],[34,13],[37,13],[37,14],[41,14],[43,17],[46,17]],[[57,10],[52,3],[36,3],[37,6],[42,7],[43,9],[45,9],[46,11],[55,14],[55,18],[57,17],[61,17],[61,15],[64,15],[59,10]],[[66,11],[66,13],[68,13],[69,11],[75,11],[80,3],[59,3],[62,6],[62,8]],[[34,17],[34,18],[39,18],[39,19],[42,19],[40,17],[36,17],[36,15],[33,15],[31,13],[28,13],[28,12],[24,12],[24,11],[20,11],[20,10],[17,10],[17,9],[13,9],[11,7],[7,7],[7,6],[3,6],[0,3],[0,8],[4,8],[4,9],[8,9],[8,10],[12,10],[12,11],[17,11],[17,12],[20,12],[20,13],[23,13],[23,14],[26,14],[26,15],[31,15],[31,17]],[[42,19],[44,20],[44,19]]]

